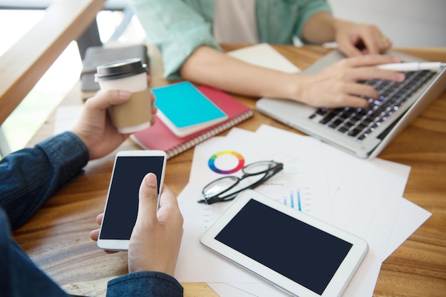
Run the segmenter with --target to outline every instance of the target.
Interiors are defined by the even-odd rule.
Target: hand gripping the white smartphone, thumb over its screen
[[[102,219],[103,214],[96,217],[98,224]],[[147,174],[141,182],[138,217],[130,236],[128,271],[160,271],[173,276],[180,252],[182,224],[177,199],[167,186],[162,187],[157,209],[157,177]],[[90,233],[95,241],[98,235],[99,229]]]

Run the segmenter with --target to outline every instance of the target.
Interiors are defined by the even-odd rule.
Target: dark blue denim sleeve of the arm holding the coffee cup
[[[63,132],[0,160],[0,207],[11,228],[24,224],[88,162],[88,149],[73,132]]]

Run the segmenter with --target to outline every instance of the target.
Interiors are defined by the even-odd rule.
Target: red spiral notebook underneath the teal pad
[[[219,134],[219,132],[234,127],[254,115],[251,108],[239,103],[239,101],[232,98],[231,95],[224,93],[222,90],[207,85],[201,85],[197,88],[204,96],[211,100],[212,103],[217,105],[227,114],[227,120],[204,130],[200,130],[199,132],[195,132],[187,137],[177,137],[164,123],[162,123],[160,118],[157,118],[154,125],[145,130],[135,132],[130,135],[130,138],[145,150],[164,150],[167,154],[167,159],[169,159],[185,150],[189,150],[200,142]]]

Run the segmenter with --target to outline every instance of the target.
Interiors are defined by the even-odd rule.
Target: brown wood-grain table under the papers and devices
[[[225,46],[225,50],[239,46]],[[275,46],[305,69],[328,49],[318,46]],[[446,61],[445,48],[398,49],[431,61]],[[152,57],[152,86],[165,85],[160,61]],[[234,95],[255,109],[256,98]],[[80,104],[78,86],[64,104]],[[70,103],[71,102],[71,103]],[[53,116],[31,144],[51,135]],[[291,130],[265,115],[237,127],[254,131],[261,124]],[[224,134],[224,133],[223,133]],[[138,149],[128,140],[118,150]],[[167,161],[165,183],[175,194],[186,186],[193,149]],[[114,154],[90,162],[85,173],[48,201],[14,238],[41,267],[68,292],[105,296],[108,279],[127,273],[127,254],[105,254],[89,238],[97,228],[95,217],[103,211]],[[432,212],[425,222],[385,262],[373,296],[445,296],[446,294],[446,93],[435,100],[379,155],[412,167],[404,197]],[[205,283],[183,283],[185,296],[217,296]]]

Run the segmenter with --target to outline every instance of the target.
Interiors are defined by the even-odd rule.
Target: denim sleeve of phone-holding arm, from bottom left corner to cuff
[[[68,295],[49,278],[12,239],[9,222],[0,207],[0,296]],[[4,295],[6,294],[6,295]],[[183,288],[165,273],[141,271],[108,282],[108,297],[182,297]]]

